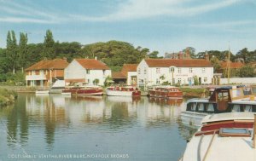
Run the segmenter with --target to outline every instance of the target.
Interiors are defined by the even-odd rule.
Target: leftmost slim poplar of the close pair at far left
[[[7,40],[6,40],[6,55],[7,60],[9,63],[9,67],[13,70],[13,73],[15,74],[15,68],[17,66],[17,40],[15,37],[14,31],[9,31],[7,34]]]

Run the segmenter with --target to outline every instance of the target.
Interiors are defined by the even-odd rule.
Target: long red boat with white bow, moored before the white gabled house
[[[61,95],[103,95],[103,89],[98,86],[66,87]]]

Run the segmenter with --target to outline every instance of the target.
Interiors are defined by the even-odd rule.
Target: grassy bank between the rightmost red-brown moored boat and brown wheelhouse
[[[205,97],[209,95],[207,89],[191,89],[191,88],[180,88],[183,91],[185,97]]]

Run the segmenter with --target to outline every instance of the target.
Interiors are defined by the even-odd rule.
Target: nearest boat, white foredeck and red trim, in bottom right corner
[[[191,138],[180,161],[256,160],[256,114],[208,115]]]

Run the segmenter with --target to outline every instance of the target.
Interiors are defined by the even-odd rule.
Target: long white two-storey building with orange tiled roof
[[[200,84],[212,83],[213,66],[209,60],[188,59],[144,59],[137,66],[139,86],[172,84],[194,84],[194,77]]]

